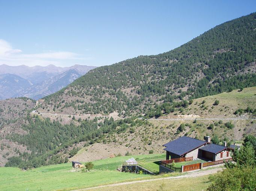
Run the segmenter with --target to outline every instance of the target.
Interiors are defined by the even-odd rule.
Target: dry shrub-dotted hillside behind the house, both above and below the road
[[[236,118],[255,118],[255,114],[243,112],[234,114],[242,108],[251,107],[256,109],[256,87],[233,90],[214,96],[206,96],[194,99],[188,107],[177,107],[171,114],[163,115],[160,119],[175,120],[135,120],[121,130],[117,127],[117,132],[109,133],[105,141],[83,147],[72,157],[72,160],[88,161],[90,158],[99,159],[110,157],[114,154],[129,152],[131,154],[148,154],[150,150],[155,153],[163,153],[162,145],[179,136],[190,136],[203,140],[204,136],[217,136],[219,144],[222,141],[230,143],[242,140],[248,133],[256,134],[256,120]],[[202,102],[205,100],[205,103]],[[215,100],[219,101],[214,105]],[[204,105],[204,107],[202,107]],[[206,109],[207,108],[207,109]],[[213,118],[196,120],[196,118]],[[225,119],[228,118],[228,119]],[[229,127],[231,123],[233,127]],[[181,124],[184,130],[178,131]],[[98,156],[97,153],[101,153]]]

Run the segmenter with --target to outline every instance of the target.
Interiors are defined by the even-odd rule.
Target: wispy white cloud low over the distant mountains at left
[[[84,58],[74,52],[67,51],[44,51],[35,54],[25,54],[20,49],[12,48],[7,41],[0,39],[0,64],[8,65],[61,65],[66,60],[92,60],[92,57]]]

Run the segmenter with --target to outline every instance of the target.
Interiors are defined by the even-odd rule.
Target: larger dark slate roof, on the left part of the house
[[[205,141],[200,141],[198,139],[182,136],[178,139],[175,139],[169,143],[164,144],[163,146],[166,147],[164,148],[164,150],[181,156],[183,154],[195,150],[198,147],[201,147],[206,143],[207,142]]]

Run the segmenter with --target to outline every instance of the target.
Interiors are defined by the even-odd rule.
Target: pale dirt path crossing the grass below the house
[[[180,175],[180,176],[171,176],[171,177],[166,177],[166,178],[156,178],[156,179],[149,179],[149,180],[142,180],[142,181],[121,182],[121,183],[116,183],[116,184],[109,184],[109,185],[103,185],[103,186],[91,187],[91,188],[84,188],[84,189],[72,190],[72,191],[92,190],[92,189],[96,189],[96,188],[114,187],[114,186],[120,186],[120,185],[135,184],[135,183],[142,183],[142,182],[151,182],[151,181],[159,181],[159,180],[166,180],[166,179],[193,178],[193,177],[198,177],[198,176],[205,176],[205,175],[214,174],[214,173],[217,173],[218,171],[221,171],[221,170],[222,170],[222,168],[209,169],[209,170],[200,170],[200,171],[195,171],[195,172],[191,172],[189,174]]]

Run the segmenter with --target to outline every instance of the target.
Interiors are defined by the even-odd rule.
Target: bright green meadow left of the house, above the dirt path
[[[162,154],[122,156],[93,161],[95,170],[91,172],[72,172],[71,163],[39,167],[27,171],[14,167],[0,168],[1,191],[44,191],[72,190],[111,184],[122,181],[154,178],[151,175],[121,173],[116,167],[124,160],[134,157],[140,160],[158,158]]]

